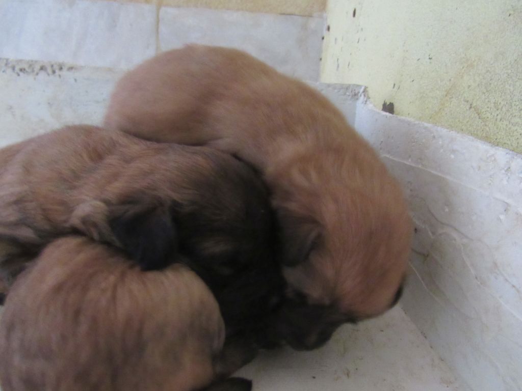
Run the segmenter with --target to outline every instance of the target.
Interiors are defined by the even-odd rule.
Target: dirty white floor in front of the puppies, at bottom
[[[322,349],[264,352],[238,375],[254,391],[457,391],[453,374],[399,307],[340,328]]]

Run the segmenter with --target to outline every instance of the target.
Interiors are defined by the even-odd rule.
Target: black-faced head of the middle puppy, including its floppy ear
[[[151,205],[137,197],[110,206],[111,231],[144,270],[182,259],[218,300],[227,335],[261,337],[284,282],[267,189],[253,169],[228,154],[184,148],[175,170],[165,168],[167,159],[162,173],[153,174],[161,182],[154,187],[165,189],[162,200]],[[141,186],[145,194],[146,183]]]

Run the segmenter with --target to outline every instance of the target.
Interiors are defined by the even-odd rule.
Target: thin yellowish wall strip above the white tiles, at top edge
[[[268,14],[313,16],[324,13],[326,0],[123,0],[173,7],[232,9]]]

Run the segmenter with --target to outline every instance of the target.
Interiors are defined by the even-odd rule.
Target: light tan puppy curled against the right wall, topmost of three
[[[278,329],[296,349],[392,307],[412,224],[396,180],[323,95],[243,52],[189,45],[129,71],[105,127],[207,145],[253,164],[282,227],[290,289]]]

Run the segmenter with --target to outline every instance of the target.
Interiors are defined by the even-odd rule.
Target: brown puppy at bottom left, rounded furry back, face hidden
[[[218,303],[186,266],[145,273],[120,250],[70,236],[45,247],[9,292],[0,383],[3,391],[250,390],[249,381],[224,380],[244,358],[223,343]]]

